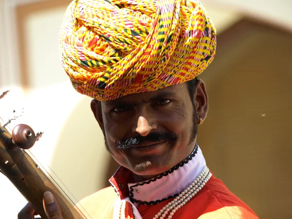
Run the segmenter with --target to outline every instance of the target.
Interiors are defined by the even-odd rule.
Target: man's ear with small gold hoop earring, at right
[[[194,103],[198,116],[197,121],[200,120],[199,116],[202,120],[204,120],[207,117],[208,112],[208,95],[205,83],[201,79],[196,82],[196,88],[194,90]]]

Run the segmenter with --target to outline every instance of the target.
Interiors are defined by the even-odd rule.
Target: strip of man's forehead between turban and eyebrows
[[[155,100],[159,98],[179,97],[182,95],[184,87],[186,88],[185,83],[179,84],[179,85],[172,85],[163,89],[158,89],[157,91],[129,94],[115,100],[104,101],[103,103],[107,106],[107,105],[112,105],[119,102],[129,102],[129,101],[142,102],[142,101],[151,101],[151,100]]]

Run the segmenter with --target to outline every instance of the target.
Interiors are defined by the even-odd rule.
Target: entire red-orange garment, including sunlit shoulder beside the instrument
[[[125,173],[125,172],[124,172]],[[121,180],[122,181],[119,181]],[[129,194],[127,184],[121,186],[127,177],[115,176],[111,179],[118,188],[122,198]],[[119,183],[118,183],[119,182]],[[120,184],[120,186],[119,186]],[[82,201],[82,205],[93,219],[112,219],[113,203],[118,198],[112,187],[107,187]],[[140,205],[138,211],[143,219],[153,219],[169,199],[156,205]],[[167,218],[167,217],[166,217]],[[235,196],[228,188],[214,176],[206,183],[202,190],[186,205],[179,209],[172,219],[258,219],[255,212]]]

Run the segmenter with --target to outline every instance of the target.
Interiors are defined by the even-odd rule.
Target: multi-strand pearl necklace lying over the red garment
[[[204,185],[210,180],[212,173],[209,172],[209,168],[207,166],[203,167],[203,170],[197,177],[197,179],[191,183],[185,190],[183,190],[178,197],[176,197],[173,201],[169,202],[165,205],[158,213],[155,215],[153,219],[172,219],[173,215],[183,207],[188,201],[197,195]]]

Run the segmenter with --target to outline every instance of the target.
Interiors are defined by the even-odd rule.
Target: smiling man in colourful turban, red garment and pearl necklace
[[[75,0],[60,32],[62,64],[121,167],[81,204],[96,219],[256,219],[206,166],[197,144],[208,97],[197,78],[216,30],[198,0]],[[44,194],[50,219],[62,219]],[[28,204],[18,219],[31,219]]]

